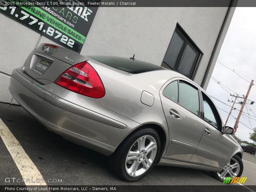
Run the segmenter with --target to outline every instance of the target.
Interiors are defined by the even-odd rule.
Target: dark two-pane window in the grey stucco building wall
[[[198,61],[202,52],[195,43],[177,25],[167,52],[164,56],[162,66],[175,70],[182,75],[192,79],[196,73]]]

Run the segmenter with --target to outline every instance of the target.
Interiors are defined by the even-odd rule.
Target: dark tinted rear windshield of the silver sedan
[[[140,60],[132,60],[124,57],[113,56],[88,56],[89,58],[109,65],[113,68],[117,68],[128,73],[143,73],[147,71],[164,70],[157,65]]]

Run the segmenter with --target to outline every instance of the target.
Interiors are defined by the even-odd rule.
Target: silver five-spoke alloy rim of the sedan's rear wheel
[[[145,173],[156,158],[157,143],[151,135],[144,135],[136,140],[125,159],[126,172],[131,177]]]

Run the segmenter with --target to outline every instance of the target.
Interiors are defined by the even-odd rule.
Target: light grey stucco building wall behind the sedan
[[[204,54],[195,77],[195,82],[201,84],[227,9],[100,7],[81,54],[120,57],[132,57],[135,54],[136,59],[160,66],[178,22]],[[223,43],[232,16],[233,12],[229,16],[219,46]],[[0,20],[0,102],[9,103],[13,101],[8,91],[12,70],[23,65],[29,52],[38,44],[56,43],[3,14],[0,14]],[[218,48],[217,51],[220,51],[220,47]],[[218,56],[218,52],[215,55]]]

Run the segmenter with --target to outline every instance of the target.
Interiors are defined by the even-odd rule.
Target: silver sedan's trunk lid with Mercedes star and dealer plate
[[[86,57],[64,47],[40,44],[28,55],[25,72],[42,84],[51,84],[72,65],[85,60]]]

